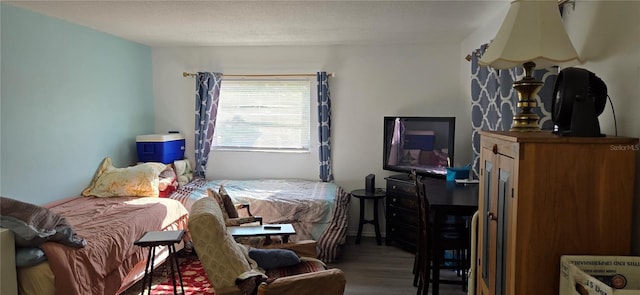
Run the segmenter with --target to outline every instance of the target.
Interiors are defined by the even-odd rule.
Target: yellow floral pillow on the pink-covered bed
[[[162,163],[142,163],[127,168],[116,168],[111,158],[102,161],[91,184],[82,191],[83,196],[101,198],[131,196],[158,197],[160,173],[166,165]]]

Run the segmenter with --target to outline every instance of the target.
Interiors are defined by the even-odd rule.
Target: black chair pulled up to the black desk
[[[418,204],[418,243],[414,260],[414,286],[418,287],[417,294],[427,294],[430,276],[440,276],[439,271],[432,271],[434,261],[439,263],[438,269],[454,270],[460,280],[438,280],[441,283],[461,284],[462,290],[467,289],[467,270],[470,254],[470,226],[468,218],[461,216],[444,216],[438,220],[442,225],[440,235],[435,236],[434,217],[430,214],[428,187],[422,177],[412,172],[416,184],[416,198]],[[433,244],[438,243],[442,250],[433,253]],[[451,255],[447,255],[447,253]]]

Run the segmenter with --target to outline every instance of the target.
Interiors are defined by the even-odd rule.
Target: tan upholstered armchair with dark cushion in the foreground
[[[339,269],[327,269],[315,258],[300,257],[300,263],[263,270],[227,231],[222,209],[214,198],[202,198],[191,207],[188,223],[194,248],[218,295],[341,295],[346,279]],[[314,255],[315,244],[282,244]]]

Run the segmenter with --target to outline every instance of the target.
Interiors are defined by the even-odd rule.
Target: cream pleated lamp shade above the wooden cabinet
[[[556,0],[514,0],[479,63],[497,69],[534,62],[536,69],[579,60]]]

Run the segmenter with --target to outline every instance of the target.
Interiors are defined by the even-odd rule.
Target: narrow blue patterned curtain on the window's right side
[[[333,181],[331,172],[331,96],[327,72],[318,72],[318,139],[320,180]]]

